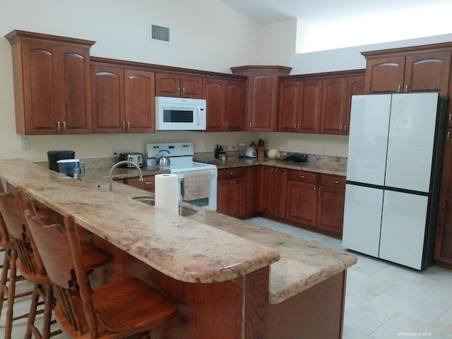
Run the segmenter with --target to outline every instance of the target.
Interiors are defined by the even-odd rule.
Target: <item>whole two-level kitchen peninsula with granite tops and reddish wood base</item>
[[[132,199],[153,194],[119,183],[110,192],[107,173],[92,172],[81,182],[0,160],[4,185],[73,215],[112,254],[94,285],[134,275],[177,300],[169,338],[341,337],[352,254],[194,206],[171,215]]]

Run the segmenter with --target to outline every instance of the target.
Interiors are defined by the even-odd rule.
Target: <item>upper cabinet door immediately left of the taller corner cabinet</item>
[[[227,131],[243,131],[244,83],[227,81],[223,101],[225,105],[225,129]]]

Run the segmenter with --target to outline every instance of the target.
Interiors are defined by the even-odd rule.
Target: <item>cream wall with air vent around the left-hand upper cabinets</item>
[[[150,42],[150,23],[170,28],[172,42]],[[230,73],[231,66],[259,64],[262,25],[212,0],[0,0],[0,159],[47,160],[47,150],[70,149],[77,157],[112,156],[112,150],[144,152],[145,143],[193,141],[195,151],[251,142],[256,133],[157,132],[85,136],[16,134],[11,30],[95,40],[95,57]],[[239,51],[239,52],[237,52]]]

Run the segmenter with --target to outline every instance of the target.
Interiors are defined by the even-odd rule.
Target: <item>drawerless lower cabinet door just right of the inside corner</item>
[[[261,166],[259,212],[285,218],[287,169]]]

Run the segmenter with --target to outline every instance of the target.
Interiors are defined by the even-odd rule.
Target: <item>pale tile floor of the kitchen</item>
[[[338,239],[264,218],[249,221],[343,249]],[[419,272],[369,256],[357,256],[358,263],[347,273],[343,339],[452,339],[452,270],[433,266]],[[27,283],[19,284],[20,289],[27,287]],[[16,303],[15,314],[25,313],[28,307],[28,299],[21,299]],[[5,315],[6,303],[0,319],[0,338],[4,338]],[[26,320],[15,323],[14,339],[23,338],[25,324]],[[53,330],[56,328],[57,325],[52,326]]]

